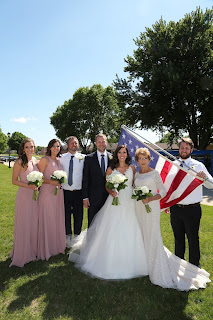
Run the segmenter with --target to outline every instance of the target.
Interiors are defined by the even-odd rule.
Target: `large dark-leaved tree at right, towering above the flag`
[[[135,45],[127,79],[114,81],[131,124],[183,130],[204,149],[213,134],[213,9],[197,8],[177,23],[161,18]]]

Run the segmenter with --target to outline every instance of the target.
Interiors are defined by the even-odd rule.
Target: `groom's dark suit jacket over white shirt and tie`
[[[109,155],[108,164],[109,166]],[[105,188],[106,179],[101,172],[97,151],[86,156],[83,170],[82,192],[83,199],[89,198],[90,205],[102,206],[106,201],[108,192]]]

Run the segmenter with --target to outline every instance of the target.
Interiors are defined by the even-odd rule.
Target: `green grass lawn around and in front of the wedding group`
[[[206,289],[179,292],[154,286],[148,277],[127,281],[91,279],[68,262],[68,251],[65,255],[51,257],[49,261],[31,262],[24,268],[9,268],[17,187],[11,183],[12,169],[0,165],[0,176],[1,320],[213,319],[212,283]],[[213,274],[213,208],[202,206],[202,209],[201,264]],[[162,214],[161,228],[164,244],[173,252],[169,215]]]

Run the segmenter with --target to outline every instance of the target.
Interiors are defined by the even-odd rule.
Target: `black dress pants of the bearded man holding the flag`
[[[175,237],[175,255],[184,259],[186,234],[189,243],[189,262],[199,266],[199,227],[202,215],[200,204],[184,207],[175,205],[170,208],[170,212],[170,221]]]

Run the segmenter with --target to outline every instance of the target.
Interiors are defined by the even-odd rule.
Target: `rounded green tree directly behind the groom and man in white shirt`
[[[121,104],[120,104],[121,105]],[[100,84],[91,88],[76,90],[73,98],[65,101],[50,117],[56,135],[65,141],[70,135],[79,139],[83,151],[95,141],[95,136],[103,132],[112,142],[117,140],[125,110],[117,104],[117,93],[113,87],[103,88]]]

